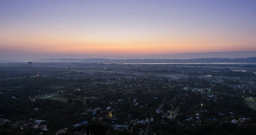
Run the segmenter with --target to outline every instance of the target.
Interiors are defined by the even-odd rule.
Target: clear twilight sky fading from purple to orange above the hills
[[[255,24],[256,0],[0,0],[0,59],[243,58]]]

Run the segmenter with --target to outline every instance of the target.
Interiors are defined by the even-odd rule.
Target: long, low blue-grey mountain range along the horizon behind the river
[[[250,58],[200,58],[200,59],[41,59],[39,62],[85,62],[85,63],[256,63]]]

